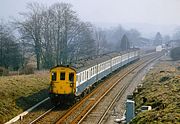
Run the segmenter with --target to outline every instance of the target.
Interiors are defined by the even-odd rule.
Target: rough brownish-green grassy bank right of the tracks
[[[161,61],[146,76],[142,90],[135,95],[136,109],[151,105],[132,123],[180,123],[180,70],[178,62]],[[143,97],[147,99],[143,102]]]

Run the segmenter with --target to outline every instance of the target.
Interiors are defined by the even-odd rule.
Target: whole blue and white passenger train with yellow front
[[[81,98],[97,82],[117,69],[138,60],[138,48],[113,52],[75,63],[73,66],[57,65],[50,69],[49,95],[53,104],[67,104]]]

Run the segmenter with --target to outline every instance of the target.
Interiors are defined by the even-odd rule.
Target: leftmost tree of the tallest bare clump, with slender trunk
[[[16,24],[22,37],[26,37],[33,42],[37,69],[39,70],[42,57],[42,7],[38,3],[30,3],[28,9],[29,12],[21,13],[25,20],[17,21]]]

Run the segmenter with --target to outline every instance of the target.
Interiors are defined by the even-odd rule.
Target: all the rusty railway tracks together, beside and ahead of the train
[[[92,123],[101,123],[104,120],[104,117],[106,116],[109,109],[114,104],[114,102],[119,97],[121,97],[123,92],[129,86],[129,84],[121,83],[121,80],[124,77],[126,77],[129,73],[133,72],[133,70],[143,65],[143,63],[148,63],[149,57],[153,58],[155,57],[155,55],[149,55],[148,57],[144,57],[142,60],[139,61],[138,64],[137,63],[131,64],[130,66],[128,66],[128,69],[127,68],[122,69],[120,72],[116,73],[115,75],[110,76],[110,78],[106,79],[90,94],[86,95],[83,99],[81,99],[79,102],[74,104],[69,109],[53,107],[49,109],[47,112],[40,115],[38,118],[31,121],[30,123],[31,124],[34,124],[34,123],[60,123],[60,124],[61,123],[87,123],[88,122],[87,117],[88,118],[90,117],[93,119],[96,118],[95,120],[97,122],[92,122]],[[112,96],[110,94],[110,91],[112,91],[113,88],[117,92],[116,93],[113,92],[114,95]],[[107,98],[109,99],[110,102],[107,102],[106,100],[104,100],[105,96],[108,96],[108,95],[110,97],[107,97]],[[105,105],[105,103],[103,103],[102,100],[106,101],[106,103],[108,104]],[[100,107],[98,108],[97,106],[100,106]]]

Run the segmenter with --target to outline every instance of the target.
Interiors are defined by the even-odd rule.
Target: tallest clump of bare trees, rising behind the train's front
[[[16,24],[21,37],[34,45],[37,69],[40,64],[43,68],[67,64],[70,61],[69,56],[72,55],[69,53],[76,47],[78,49],[78,44],[81,44],[79,42],[85,38],[87,40],[84,42],[92,39],[89,28],[91,26],[79,20],[70,4],[55,3],[45,7],[31,3],[28,8],[29,12],[21,14],[24,21],[16,21]],[[69,49],[72,44],[76,47]]]

